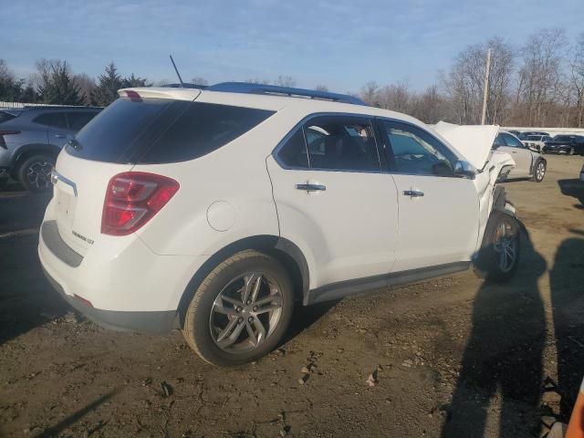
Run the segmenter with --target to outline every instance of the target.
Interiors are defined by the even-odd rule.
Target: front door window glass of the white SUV
[[[391,171],[440,176],[454,173],[454,153],[432,134],[406,123],[382,124],[391,148]]]

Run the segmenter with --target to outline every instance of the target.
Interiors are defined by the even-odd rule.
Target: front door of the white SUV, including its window
[[[393,271],[470,260],[478,238],[478,196],[472,180],[454,176],[454,152],[409,123],[379,123],[398,192]]]

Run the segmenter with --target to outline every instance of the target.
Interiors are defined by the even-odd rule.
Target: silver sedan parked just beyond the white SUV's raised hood
[[[547,162],[537,151],[527,148],[515,135],[510,132],[499,132],[493,143],[493,149],[506,151],[511,154],[516,166],[509,172],[507,178],[533,178],[536,183],[544,180]]]

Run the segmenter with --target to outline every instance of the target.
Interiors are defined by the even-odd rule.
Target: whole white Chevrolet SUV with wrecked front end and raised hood
[[[203,360],[255,360],[295,303],[469,266],[511,276],[497,129],[304,89],[122,89],[59,154],[38,254],[102,326],[179,328]]]

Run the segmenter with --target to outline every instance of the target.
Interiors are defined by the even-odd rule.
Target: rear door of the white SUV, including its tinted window
[[[391,271],[397,195],[370,119],[314,117],[288,134],[267,169],[280,234],[318,266],[311,288]]]

